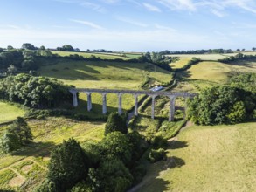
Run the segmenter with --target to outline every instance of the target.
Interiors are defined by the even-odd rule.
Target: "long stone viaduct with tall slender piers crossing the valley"
[[[134,90],[114,90],[114,89],[84,89],[84,88],[75,88],[70,89],[70,93],[73,94],[73,106],[78,106],[77,93],[86,93],[87,95],[87,111],[91,111],[93,108],[92,105],[92,93],[101,93],[102,95],[102,113],[107,113],[107,93],[116,93],[118,96],[118,113],[122,113],[121,109],[121,95],[122,94],[133,94],[135,97],[135,115],[138,115],[138,96],[139,95],[148,95],[152,98],[151,106],[151,118],[155,117],[155,99],[157,96],[166,96],[170,98],[170,114],[169,121],[174,120],[175,113],[175,100],[176,97],[183,98],[192,98],[196,96],[195,93],[172,93],[172,92],[152,92],[152,91],[134,91]]]

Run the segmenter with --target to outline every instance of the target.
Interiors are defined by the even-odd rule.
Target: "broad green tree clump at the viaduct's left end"
[[[24,106],[52,107],[70,103],[72,95],[69,88],[57,79],[18,74],[0,81],[0,97]]]

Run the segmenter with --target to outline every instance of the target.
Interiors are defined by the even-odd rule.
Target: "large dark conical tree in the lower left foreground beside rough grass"
[[[88,168],[88,158],[80,144],[69,139],[52,150],[48,179],[55,182],[59,190],[68,189],[85,178]]]

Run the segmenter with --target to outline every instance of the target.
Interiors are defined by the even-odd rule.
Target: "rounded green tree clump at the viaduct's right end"
[[[255,101],[255,94],[238,87],[206,88],[190,100],[188,118],[200,125],[242,122],[252,117]]]

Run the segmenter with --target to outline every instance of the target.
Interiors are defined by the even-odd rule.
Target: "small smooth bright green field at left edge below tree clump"
[[[0,123],[16,119],[18,116],[24,116],[24,110],[18,106],[0,101]]]

